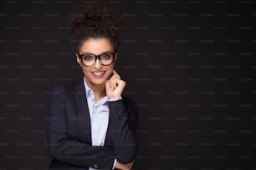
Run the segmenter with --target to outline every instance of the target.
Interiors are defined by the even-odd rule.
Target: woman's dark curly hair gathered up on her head
[[[125,26],[123,16],[110,2],[73,7],[68,23],[75,52],[78,52],[79,47],[90,37],[105,37],[117,50],[120,45],[120,32]]]

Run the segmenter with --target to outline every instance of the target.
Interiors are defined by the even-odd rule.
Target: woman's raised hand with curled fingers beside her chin
[[[105,91],[107,97],[115,99],[121,97],[125,89],[126,82],[120,79],[120,75],[113,70],[113,75],[105,82]]]

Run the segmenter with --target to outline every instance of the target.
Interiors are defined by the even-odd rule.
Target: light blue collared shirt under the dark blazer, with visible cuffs
[[[108,105],[108,97],[103,97],[99,101],[95,100],[95,93],[88,87],[84,77],[84,88],[87,98],[87,103],[90,112],[90,126],[91,126],[91,142],[92,146],[104,146],[105,135],[109,124],[110,109]],[[120,100],[117,98],[116,100]],[[116,162],[116,160],[115,160]],[[113,169],[115,168],[115,162]],[[95,168],[89,168],[95,170]]]

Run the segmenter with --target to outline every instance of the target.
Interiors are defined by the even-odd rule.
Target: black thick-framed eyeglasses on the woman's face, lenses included
[[[100,55],[95,55],[93,53],[86,52],[82,54],[77,53],[77,55],[86,67],[94,66],[97,59],[100,60],[101,65],[109,66],[114,62],[115,52],[105,52]]]

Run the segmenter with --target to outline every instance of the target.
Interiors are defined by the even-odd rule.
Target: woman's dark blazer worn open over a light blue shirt
[[[110,117],[105,145],[92,146],[83,78],[72,85],[53,88],[48,122],[49,154],[53,159],[49,169],[112,169],[115,158],[120,163],[135,159],[135,102],[123,97],[108,104]]]

